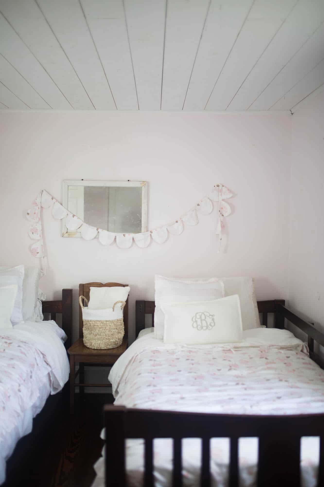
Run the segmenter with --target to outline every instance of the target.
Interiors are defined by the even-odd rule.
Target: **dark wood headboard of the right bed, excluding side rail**
[[[271,301],[257,301],[258,311],[262,313],[262,324],[268,326],[268,313],[275,313],[276,306],[279,304],[285,305],[285,300],[271,300]],[[152,326],[154,326],[154,310],[155,310],[155,302],[154,301],[140,301],[137,300],[136,304],[136,312],[135,312],[135,337],[138,337],[138,334],[141,330],[145,328],[145,315],[152,316]],[[275,327],[276,328],[284,328],[285,327],[285,319],[276,315],[275,313]]]

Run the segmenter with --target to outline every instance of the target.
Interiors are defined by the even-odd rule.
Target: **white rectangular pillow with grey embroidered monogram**
[[[164,343],[205,345],[242,341],[237,294],[212,301],[163,303]]]

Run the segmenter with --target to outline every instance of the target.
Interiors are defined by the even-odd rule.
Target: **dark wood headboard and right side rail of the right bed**
[[[284,329],[286,318],[290,323],[306,333],[309,356],[312,360],[314,360],[314,362],[322,367],[322,369],[324,369],[323,356],[314,351],[314,342],[324,346],[324,334],[314,328],[314,323],[305,321],[305,319],[300,318],[298,315],[286,308],[285,300],[257,301],[257,305],[259,313],[262,314],[262,324],[264,326],[268,326],[268,313],[274,313],[275,328]],[[152,316],[152,326],[154,326],[154,309],[154,301],[136,300],[135,338],[137,338],[140,331],[144,330],[145,328],[145,315]]]

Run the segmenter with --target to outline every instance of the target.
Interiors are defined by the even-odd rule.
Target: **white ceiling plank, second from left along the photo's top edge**
[[[97,110],[116,106],[104,69],[78,0],[37,0],[56,39]]]

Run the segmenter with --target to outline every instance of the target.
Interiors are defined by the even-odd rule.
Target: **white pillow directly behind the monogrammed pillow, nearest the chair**
[[[224,284],[218,278],[200,281],[155,276],[154,336],[162,339],[164,335],[162,301],[169,303],[207,301],[223,298],[224,296]]]

